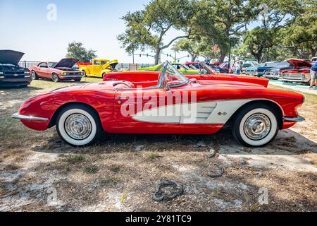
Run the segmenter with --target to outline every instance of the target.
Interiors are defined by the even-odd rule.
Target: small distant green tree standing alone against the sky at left
[[[82,45],[81,42],[70,42],[68,44],[66,57],[79,59],[82,62],[89,62],[97,57],[96,50],[85,49]]]

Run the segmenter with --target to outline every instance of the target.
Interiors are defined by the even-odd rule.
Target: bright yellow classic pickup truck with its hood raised
[[[92,63],[77,63],[79,70],[84,72],[84,77],[94,76],[102,78],[105,73],[113,71],[118,64],[118,60],[93,59]]]

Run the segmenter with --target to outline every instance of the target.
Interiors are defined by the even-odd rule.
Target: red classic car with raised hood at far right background
[[[281,80],[309,85],[311,81],[311,62],[304,59],[287,59],[286,61],[292,64],[294,68],[280,71]]]

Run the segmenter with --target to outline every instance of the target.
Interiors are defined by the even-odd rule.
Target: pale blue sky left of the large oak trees
[[[132,57],[120,48],[116,39],[125,30],[120,17],[128,11],[143,8],[148,2],[0,0],[0,49],[25,52],[25,60],[58,61],[65,57],[68,43],[77,41],[87,48],[96,49],[98,57],[132,62]],[[56,5],[56,21],[47,19],[49,4]],[[166,42],[175,33],[178,32],[170,31],[166,35]],[[168,50],[166,53],[173,52]],[[180,57],[181,54],[184,53],[180,53]],[[153,63],[154,60],[150,57],[135,57],[135,61]]]

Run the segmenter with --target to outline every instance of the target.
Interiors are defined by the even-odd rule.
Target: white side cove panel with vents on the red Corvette
[[[225,124],[249,100],[220,100],[167,105],[135,114],[136,121],[176,124]]]

